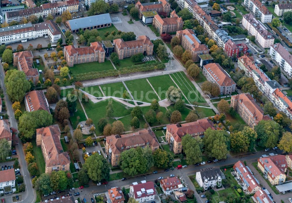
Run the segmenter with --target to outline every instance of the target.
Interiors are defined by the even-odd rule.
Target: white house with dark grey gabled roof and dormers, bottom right
[[[208,187],[214,188],[216,185],[220,187],[222,182],[221,171],[219,168],[198,171],[196,173],[196,181],[204,190],[207,190]]]

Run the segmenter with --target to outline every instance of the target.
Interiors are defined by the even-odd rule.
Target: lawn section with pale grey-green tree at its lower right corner
[[[170,86],[176,86],[169,75],[160,75],[155,77],[148,77],[154,90],[157,92],[161,100],[166,99],[166,91]],[[162,82],[163,81],[163,82]]]

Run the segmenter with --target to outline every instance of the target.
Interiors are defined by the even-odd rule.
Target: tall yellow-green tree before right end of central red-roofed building
[[[187,164],[195,164],[202,161],[202,152],[196,138],[186,134],[182,138],[183,150],[186,155]]]

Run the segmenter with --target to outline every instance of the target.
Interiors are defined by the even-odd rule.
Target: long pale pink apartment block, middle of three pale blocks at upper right
[[[256,37],[256,41],[263,48],[269,48],[274,44],[275,38],[272,36],[272,33],[268,32],[265,25],[258,21],[251,13],[243,16],[242,25],[251,35]]]

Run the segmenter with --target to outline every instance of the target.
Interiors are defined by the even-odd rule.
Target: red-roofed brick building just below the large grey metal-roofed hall
[[[99,41],[90,43],[89,47],[76,48],[75,45],[64,47],[64,58],[69,67],[74,64],[98,61],[105,62],[105,50]]]

